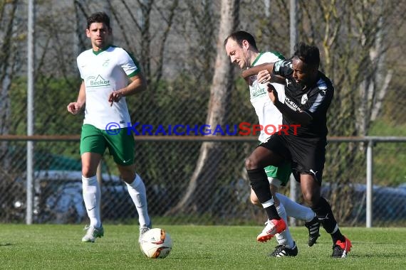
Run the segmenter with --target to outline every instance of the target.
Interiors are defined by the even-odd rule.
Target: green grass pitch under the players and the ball
[[[307,247],[307,229],[291,228],[298,256],[271,258],[276,240],[255,240],[262,227],[162,225],[172,252],[147,259],[136,226],[104,227],[105,237],[82,243],[79,225],[0,225],[0,269],[406,269],[405,228],[345,227],[353,249],[346,259],[332,259],[323,229],[318,244]]]

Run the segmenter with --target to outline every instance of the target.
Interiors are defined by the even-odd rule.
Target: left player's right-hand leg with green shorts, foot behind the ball
[[[108,148],[117,163],[121,178],[127,185],[128,193],[134,202],[140,222],[140,237],[152,227],[148,215],[147,193],[140,175],[135,173],[135,141],[127,129],[121,129],[117,135],[105,135],[108,138]]]

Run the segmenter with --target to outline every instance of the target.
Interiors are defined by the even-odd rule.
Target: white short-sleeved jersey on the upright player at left
[[[85,50],[78,56],[77,63],[86,92],[83,124],[92,124],[98,129],[105,129],[109,123],[126,127],[130,114],[125,97],[113,102],[111,107],[108,97],[111,92],[126,87],[128,77],[140,72],[137,61],[123,48],[112,45],[98,52]]]

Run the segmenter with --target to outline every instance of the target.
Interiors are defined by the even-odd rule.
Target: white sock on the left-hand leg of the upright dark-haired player
[[[85,178],[82,175],[83,201],[90,219],[90,226],[100,227],[100,186],[96,176]]]

